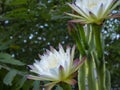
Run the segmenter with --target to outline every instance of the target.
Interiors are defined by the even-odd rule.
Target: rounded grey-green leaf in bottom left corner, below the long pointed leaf
[[[16,70],[14,70],[14,69],[10,70],[3,79],[4,84],[11,86],[12,81],[13,81],[14,77],[16,76],[16,74],[17,74]]]

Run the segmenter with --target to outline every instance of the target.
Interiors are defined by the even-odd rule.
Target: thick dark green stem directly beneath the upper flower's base
[[[97,51],[97,56],[98,60],[100,61],[98,66],[96,67],[97,69],[97,74],[98,74],[98,82],[99,82],[99,88],[100,90],[106,90],[105,87],[105,60],[104,60],[104,55],[103,55],[103,44],[102,44],[102,38],[101,38],[101,26],[100,25],[92,25],[94,36],[95,36],[95,46],[96,46],[96,51]]]

